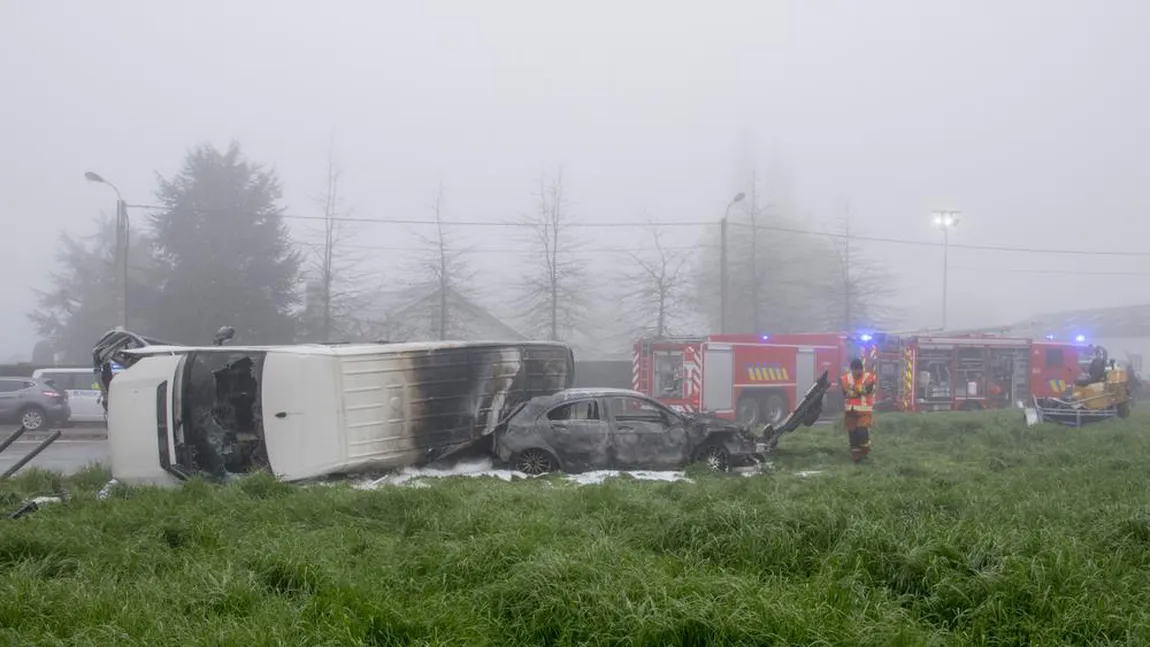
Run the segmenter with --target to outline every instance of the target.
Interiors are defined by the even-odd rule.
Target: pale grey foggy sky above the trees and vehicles
[[[0,2],[0,361],[31,353],[57,232],[112,211],[84,171],[153,203],[205,141],[274,167],[290,214],[317,213],[334,136],[366,217],[428,217],[443,180],[446,218],[513,219],[562,165],[578,218],[710,221],[753,167],[812,229],[849,202],[857,233],[938,241],[948,208],[954,244],[1142,252],[1148,18],[1140,0]],[[497,294],[518,238],[455,236]],[[858,248],[902,279],[908,325],[938,324],[941,249]],[[951,249],[950,323],[1144,302],[1145,277],[1066,272],[1145,261]]]

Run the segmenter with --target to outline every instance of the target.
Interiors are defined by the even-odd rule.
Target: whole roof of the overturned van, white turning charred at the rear
[[[269,351],[261,386],[268,461],[285,480],[430,462],[573,380],[574,356],[561,344]]]

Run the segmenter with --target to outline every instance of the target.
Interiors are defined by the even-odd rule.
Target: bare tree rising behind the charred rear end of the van
[[[529,329],[547,339],[562,340],[583,319],[584,263],[576,256],[578,241],[570,231],[564,176],[539,178],[535,214],[523,224],[530,232],[529,256],[535,270],[523,282],[521,305]]]

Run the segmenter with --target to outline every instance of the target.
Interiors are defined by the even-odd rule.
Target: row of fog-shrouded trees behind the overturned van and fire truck
[[[128,326],[186,344],[206,342],[222,324],[247,344],[476,334],[470,326],[483,298],[468,248],[445,217],[444,186],[429,205],[430,233],[420,236],[420,253],[396,280],[370,267],[354,244],[362,231],[343,203],[342,178],[329,149],[314,226],[297,241],[274,170],[250,161],[236,143],[190,151],[172,177],[158,178],[159,209],[132,223]],[[792,221],[759,200],[753,176],[751,184],[751,198],[729,218],[738,232],[728,242],[730,332],[844,330],[897,316],[889,275],[858,251],[852,256],[849,236],[839,238],[844,245],[761,236],[761,224]],[[624,263],[596,268],[573,226],[578,221],[562,172],[540,178],[532,201],[516,223],[526,254],[521,280],[497,298],[515,330],[576,351],[623,349],[643,334],[718,332],[718,228],[697,248],[683,248],[667,245],[652,223],[647,245],[628,252]],[[86,363],[92,342],[122,322],[116,236],[108,217],[91,237],[61,234],[56,271],[30,313],[61,361]]]

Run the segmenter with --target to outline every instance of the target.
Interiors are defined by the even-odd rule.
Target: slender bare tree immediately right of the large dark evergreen
[[[312,232],[315,241],[306,245],[308,298],[304,318],[307,338],[331,341],[336,336],[354,334],[360,328],[354,319],[366,300],[363,286],[368,277],[362,270],[366,256],[352,244],[358,228],[350,221],[351,211],[342,208],[343,170],[334,144],[328,147],[325,176],[323,192],[314,198],[322,214],[319,231]]]

